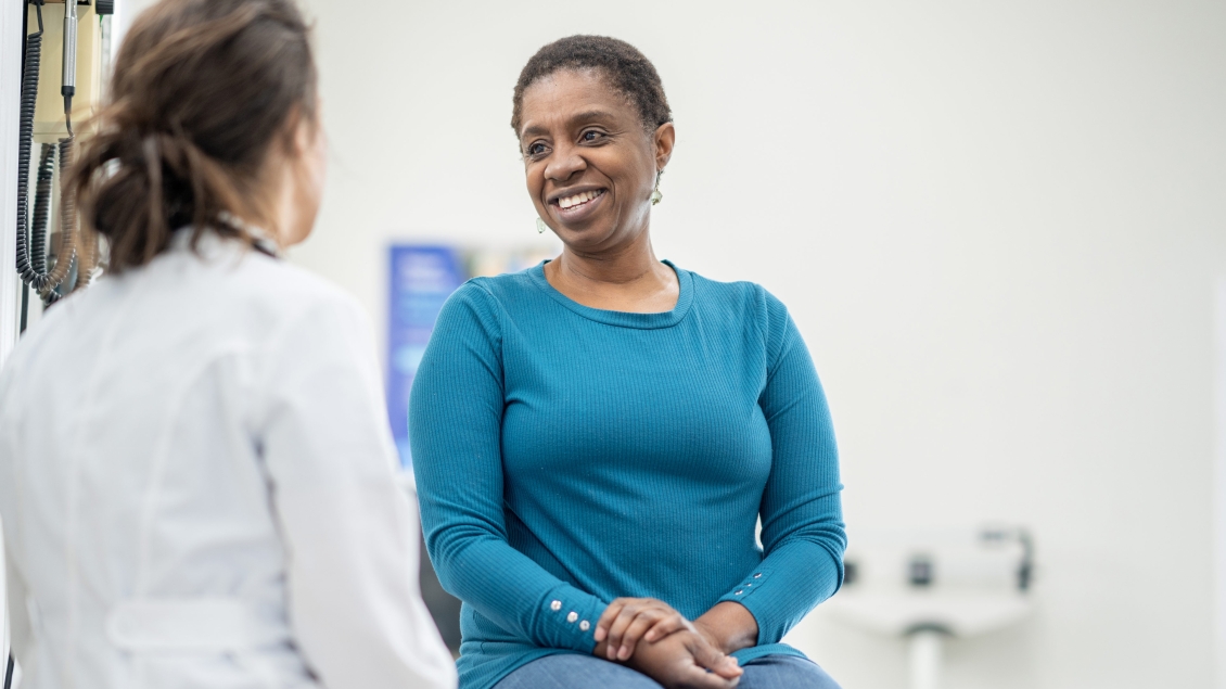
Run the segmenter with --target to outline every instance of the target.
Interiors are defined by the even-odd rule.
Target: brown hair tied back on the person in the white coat
[[[315,121],[308,34],[293,0],[163,0],[136,20],[65,185],[82,228],[107,238],[110,272],[150,262],[189,223],[196,246],[205,232],[250,242],[230,216],[271,221],[246,190],[291,118]]]

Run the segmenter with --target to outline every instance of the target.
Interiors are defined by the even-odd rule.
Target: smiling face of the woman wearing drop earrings
[[[537,213],[574,250],[600,251],[647,229],[673,125],[644,131],[638,108],[593,70],[562,70],[524,92],[520,152]]]

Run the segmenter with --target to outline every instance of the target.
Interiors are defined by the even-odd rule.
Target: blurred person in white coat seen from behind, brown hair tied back
[[[25,687],[454,687],[369,326],[277,259],[325,168],[302,16],[166,1],[115,75],[69,179],[110,275],[0,376]]]

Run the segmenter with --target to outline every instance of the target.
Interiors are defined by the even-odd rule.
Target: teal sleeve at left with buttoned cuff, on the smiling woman
[[[409,441],[425,544],[443,586],[546,649],[590,652],[607,603],[508,542],[497,304],[470,282],[444,305],[413,380]]]

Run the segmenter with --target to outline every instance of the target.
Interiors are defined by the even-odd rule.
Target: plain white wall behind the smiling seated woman
[[[1036,615],[954,644],[949,687],[1213,685],[1226,5],[308,4],[333,164],[293,257],[376,322],[390,240],[535,237],[508,124],[524,61],[630,40],[677,118],[658,253],[790,305],[851,538],[1036,532]],[[899,644],[820,615],[793,640],[845,687],[904,685]]]

